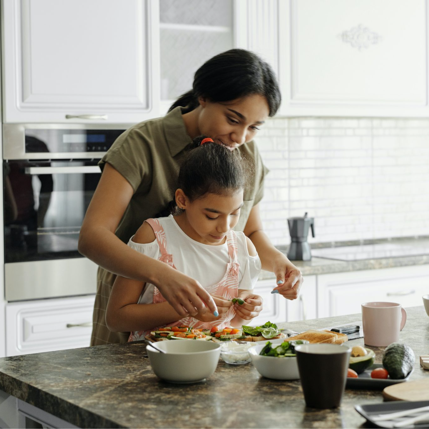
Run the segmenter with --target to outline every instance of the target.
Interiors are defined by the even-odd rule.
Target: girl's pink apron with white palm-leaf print
[[[155,237],[157,239],[161,256],[158,260],[168,264],[172,268],[176,269],[173,263],[173,255],[167,253],[167,242],[165,231],[161,226],[158,219],[148,219],[147,222],[152,229],[154,230]],[[206,287],[208,293],[219,295],[224,297],[225,299],[233,299],[238,296],[238,288],[239,288],[239,268],[240,264],[237,258],[237,236],[233,230],[230,230],[227,233],[227,245],[228,245],[228,255],[229,262],[227,263],[227,269],[224,274],[224,277],[219,283],[214,284],[213,286]],[[160,291],[157,287],[154,287],[154,295],[152,302],[164,302],[166,299],[161,295]],[[130,338],[128,341],[137,341],[145,338],[149,332],[157,330],[159,328],[164,328],[166,326],[192,326],[197,329],[211,329],[213,326],[218,326],[219,329],[222,329],[228,326],[230,320],[235,316],[234,307],[232,306],[222,317],[218,318],[213,322],[201,322],[198,319],[195,319],[191,316],[184,317],[181,320],[177,320],[176,322],[168,323],[167,325],[154,327],[147,331],[135,331],[130,333]]]

